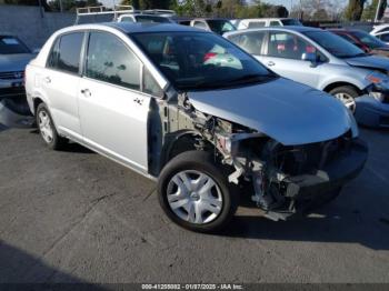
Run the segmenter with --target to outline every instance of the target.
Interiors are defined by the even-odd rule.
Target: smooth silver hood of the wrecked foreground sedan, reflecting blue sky
[[[188,92],[188,98],[203,113],[255,129],[286,146],[335,139],[352,124],[340,101],[282,78],[237,89]]]

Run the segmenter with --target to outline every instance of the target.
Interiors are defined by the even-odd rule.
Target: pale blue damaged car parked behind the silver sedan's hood
[[[251,29],[226,38],[280,76],[331,93],[358,111],[358,118],[370,116],[358,121],[389,126],[387,58],[368,56],[329,31],[308,27]],[[369,96],[368,107],[358,109],[360,96]]]

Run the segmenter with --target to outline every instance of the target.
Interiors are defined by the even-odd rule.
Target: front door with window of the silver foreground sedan
[[[84,67],[78,93],[84,142],[147,172],[151,97],[141,92],[142,63],[117,36],[91,32]]]

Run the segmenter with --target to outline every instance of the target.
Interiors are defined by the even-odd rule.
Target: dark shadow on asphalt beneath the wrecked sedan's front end
[[[363,215],[353,210],[337,211],[326,205],[309,215],[272,221],[259,213],[237,214],[222,237],[272,241],[359,243],[373,250],[389,250],[389,217]],[[258,210],[259,212],[259,210]]]

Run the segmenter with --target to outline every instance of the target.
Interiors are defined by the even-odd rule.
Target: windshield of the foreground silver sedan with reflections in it
[[[178,90],[227,88],[276,77],[213,33],[157,32],[132,38]]]

